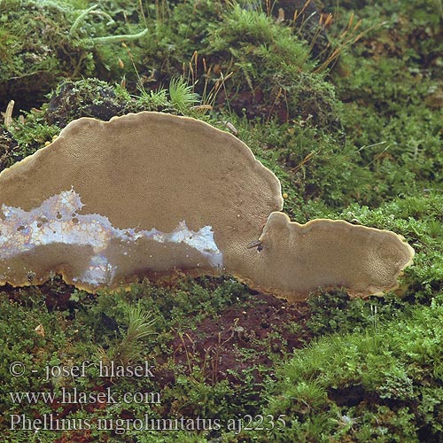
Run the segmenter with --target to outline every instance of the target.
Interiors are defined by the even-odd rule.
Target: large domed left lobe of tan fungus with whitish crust
[[[88,291],[242,260],[283,198],[235,136],[163,113],[82,118],[0,174],[0,284]]]

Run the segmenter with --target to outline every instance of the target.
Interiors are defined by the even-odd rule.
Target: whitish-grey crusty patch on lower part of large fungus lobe
[[[82,206],[80,196],[74,190],[64,190],[29,212],[3,205],[0,279],[22,284],[27,278],[29,283],[35,283],[35,277],[44,281],[50,276],[51,269],[58,269],[65,273],[70,283],[94,290],[100,285],[112,284],[119,276],[118,261],[113,262],[118,260],[116,246],[120,245],[120,255],[131,261],[131,256],[142,242],[151,245],[151,251],[156,244],[169,244],[171,268],[189,265],[195,259],[214,268],[221,267],[222,253],[214,243],[210,226],[194,232],[188,229],[185,221],[180,221],[170,233],[157,229],[117,229],[104,215],[77,214]],[[75,257],[77,263],[74,265],[69,263],[72,260],[69,257],[71,245],[79,251],[83,249],[84,253],[82,260]],[[181,245],[182,257],[177,253],[177,245]],[[159,245],[156,246],[159,248]],[[63,263],[60,263],[60,248],[66,251]],[[151,270],[157,270],[152,258],[152,253],[147,254],[145,261],[150,263]],[[43,267],[41,263],[44,263]],[[77,269],[75,275],[74,266]],[[193,266],[198,267],[198,261],[194,261]],[[124,276],[120,275],[120,278],[124,280]]]

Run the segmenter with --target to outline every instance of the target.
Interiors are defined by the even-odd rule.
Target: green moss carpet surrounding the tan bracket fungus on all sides
[[[142,383],[129,378],[113,380],[113,388],[159,390],[164,395],[161,408],[108,405],[88,412],[79,408],[69,417],[139,416],[148,410],[155,417],[172,412],[227,420],[249,412],[275,419],[283,414],[286,426],[238,435],[227,429],[128,431],[123,436],[93,431],[82,438],[443,439],[441,2],[322,4],[323,12],[334,12],[328,29],[332,43],[343,41],[351,12],[350,29],[362,19],[355,29],[362,34],[341,51],[336,69],[318,74],[312,42],[303,42],[290,20],[277,24],[256,2],[100,0],[93,10],[87,0],[0,2],[2,107],[12,98],[18,102],[16,111],[35,107],[2,132],[2,168],[35,152],[82,116],[107,120],[149,110],[195,116],[225,130],[229,122],[281,180],[288,194],[284,211],[293,220],[340,218],[391,229],[416,250],[414,265],[400,279],[400,295],[351,300],[340,290],[318,291],[307,305],[294,308],[306,310],[306,318],[278,325],[266,338],[254,336],[256,330],[239,329],[229,317],[224,326],[244,340],[235,350],[236,364],[243,368],[222,374],[214,370],[210,383],[207,365],[214,359],[198,354],[186,334],[198,333],[203,324],[229,316],[229,309],[251,307],[260,298],[234,280],[187,280],[172,287],[135,284],[128,292],[103,291],[97,298],[66,288],[58,278],[41,289],[6,288],[9,295],[0,297],[7,319],[0,322],[2,413],[17,410],[35,416],[54,410],[44,402],[14,405],[10,391],[73,385],[66,379],[43,384],[32,374],[11,377],[11,361],[42,371],[48,362],[72,364],[85,356],[97,361],[123,346],[132,357],[138,353],[141,359],[159,361],[168,387],[162,385],[165,379]],[[120,35],[145,27],[148,32],[140,40],[126,47],[118,43]],[[219,82],[214,100],[208,91],[221,75],[225,81]],[[49,103],[41,105],[51,89]],[[202,114],[198,105],[214,109]],[[138,307],[151,313],[155,335],[128,345],[130,315]],[[45,337],[35,333],[40,323]],[[293,356],[288,331],[299,339],[297,346],[304,346]],[[307,345],[311,337],[317,339]],[[180,360],[182,340],[189,346]],[[268,363],[260,364],[260,359]],[[81,382],[88,391],[98,386],[106,387],[94,371]],[[5,423],[0,423],[2,431]],[[29,441],[27,431],[4,435]],[[60,433],[51,431],[35,437],[57,438]]]

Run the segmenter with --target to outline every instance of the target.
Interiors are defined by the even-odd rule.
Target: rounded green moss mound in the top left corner
[[[66,4],[50,2],[6,2],[0,6],[4,24],[0,35],[0,97],[27,106],[27,97],[34,103],[36,97],[43,100],[60,77],[93,72],[92,54],[76,47],[68,36],[66,14],[74,11]]]

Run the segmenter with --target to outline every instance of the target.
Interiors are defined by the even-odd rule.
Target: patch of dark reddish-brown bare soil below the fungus
[[[284,354],[306,345],[311,335],[306,328],[306,303],[290,305],[272,295],[256,294],[245,302],[225,309],[215,318],[206,318],[196,330],[185,330],[171,343],[175,365],[190,372],[202,369],[206,383],[228,379],[242,384],[245,369],[270,368]],[[294,331],[296,330],[296,332]],[[254,384],[262,374],[253,372]],[[171,370],[158,370],[161,385],[174,383]]]

